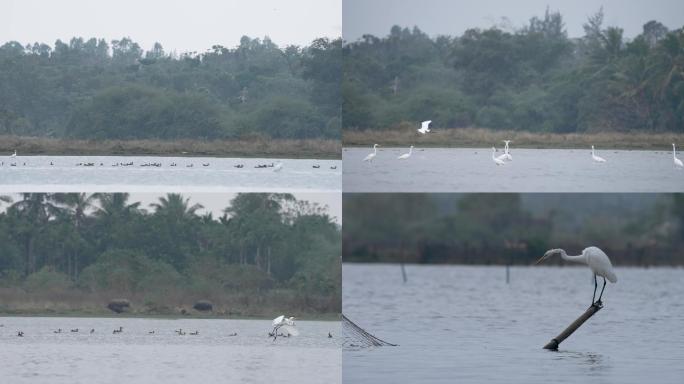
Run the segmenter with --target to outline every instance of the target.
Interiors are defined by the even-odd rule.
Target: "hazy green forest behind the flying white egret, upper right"
[[[548,9],[517,30],[431,38],[395,26],[343,47],[343,128],[684,132],[684,29],[627,39],[589,17],[569,38]]]

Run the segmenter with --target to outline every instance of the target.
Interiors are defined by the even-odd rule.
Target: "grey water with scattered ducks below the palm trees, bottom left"
[[[301,384],[342,377],[338,338],[328,338],[339,335],[339,322],[297,321],[299,336],[275,342],[267,336],[270,320],[0,317],[0,324],[2,383]],[[112,334],[119,326],[123,333]],[[65,333],[53,333],[58,328]],[[179,328],[185,336],[174,332]],[[199,335],[189,335],[195,330]]]

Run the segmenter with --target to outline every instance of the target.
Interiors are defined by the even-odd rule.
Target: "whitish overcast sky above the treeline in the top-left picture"
[[[341,0],[0,0],[0,44],[131,37],[143,49],[203,52],[268,35],[279,46],[339,37]]]

